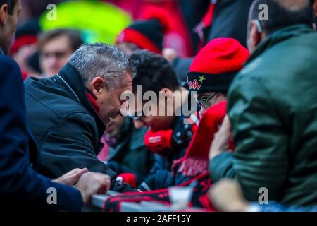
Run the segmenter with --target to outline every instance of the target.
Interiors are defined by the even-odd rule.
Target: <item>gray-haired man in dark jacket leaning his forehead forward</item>
[[[97,159],[100,138],[132,90],[134,69],[116,47],[87,44],[51,78],[25,81],[27,121],[40,152],[39,172],[60,177],[74,168],[116,174]],[[111,189],[123,191],[121,187]]]

